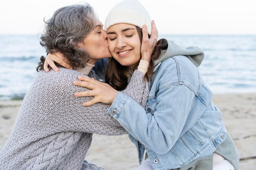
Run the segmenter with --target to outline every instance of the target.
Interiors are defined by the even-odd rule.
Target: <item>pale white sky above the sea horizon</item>
[[[85,0],[104,24],[121,0]],[[139,0],[160,35],[256,35],[254,0]],[[0,34],[37,34],[54,11],[81,0],[1,0]]]

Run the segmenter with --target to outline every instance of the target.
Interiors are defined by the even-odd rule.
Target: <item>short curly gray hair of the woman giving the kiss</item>
[[[89,53],[79,48],[79,43],[83,43],[85,36],[96,27],[96,22],[97,15],[88,3],[62,7],[45,22],[40,44],[47,53],[62,53],[70,61],[72,68],[83,68],[89,59]],[[37,70],[43,69],[43,63],[41,57]]]

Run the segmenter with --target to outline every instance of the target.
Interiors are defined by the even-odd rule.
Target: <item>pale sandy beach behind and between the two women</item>
[[[0,101],[0,150],[14,126],[22,101]],[[240,153],[240,170],[256,170],[256,93],[214,95],[223,121]],[[106,170],[135,170],[139,165],[135,146],[127,135],[93,135],[88,161]]]

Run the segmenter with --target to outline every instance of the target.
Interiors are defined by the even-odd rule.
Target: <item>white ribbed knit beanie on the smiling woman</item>
[[[151,18],[146,8],[138,0],[124,0],[115,5],[105,20],[105,30],[120,23],[132,24],[142,28],[146,24],[151,34]]]

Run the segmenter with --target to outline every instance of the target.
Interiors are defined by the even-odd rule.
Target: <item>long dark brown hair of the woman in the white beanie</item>
[[[136,26],[137,32],[139,34],[140,42],[142,42],[142,29]],[[148,35],[150,38],[150,35]],[[168,48],[168,42],[166,39],[160,39],[157,41],[157,45],[151,55],[151,60],[149,62],[148,72],[145,74],[144,79],[150,81],[153,76],[153,62],[159,57],[162,50]],[[136,68],[136,67],[135,67]],[[110,84],[113,88],[118,91],[124,90],[128,84],[129,77],[129,67],[122,66],[113,57],[108,60],[108,68],[105,75],[105,82]]]

